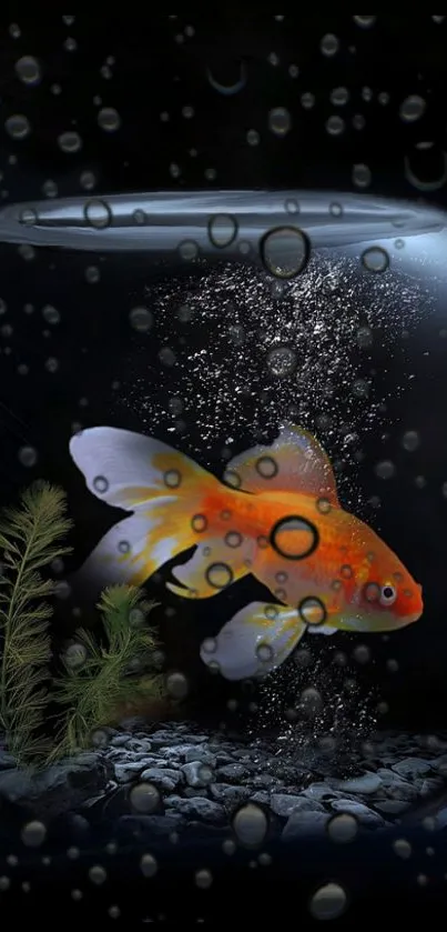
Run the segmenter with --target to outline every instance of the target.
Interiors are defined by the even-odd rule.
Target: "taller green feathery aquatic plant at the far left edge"
[[[48,750],[44,713],[51,659],[48,598],[55,583],[41,570],[70,552],[65,495],[48,482],[21,494],[0,518],[0,728],[19,766],[32,766]]]

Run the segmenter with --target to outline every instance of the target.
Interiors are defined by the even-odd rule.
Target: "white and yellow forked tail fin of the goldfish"
[[[70,454],[96,498],[133,512],[99,541],[75,584],[141,585],[197,543],[200,502],[220,483],[189,457],[154,438],[106,427],[72,437]]]

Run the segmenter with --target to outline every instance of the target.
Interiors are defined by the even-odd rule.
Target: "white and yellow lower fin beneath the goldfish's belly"
[[[263,677],[292,653],[307,625],[296,609],[251,602],[224,624],[215,639],[206,639],[201,658],[226,680]]]

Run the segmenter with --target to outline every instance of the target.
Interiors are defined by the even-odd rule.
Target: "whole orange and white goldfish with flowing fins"
[[[292,423],[272,445],[235,457],[223,481],[126,430],[84,430],[70,452],[91,492],[133,512],[99,542],[84,579],[141,585],[195,545],[172,570],[181,585],[166,582],[177,595],[207,599],[248,573],[270,589],[271,602],[251,602],[202,644],[202,660],[228,680],[268,673],[306,631],[392,631],[421,615],[421,587],[344,511],[327,454]]]

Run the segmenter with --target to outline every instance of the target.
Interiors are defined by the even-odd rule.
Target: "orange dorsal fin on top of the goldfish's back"
[[[246,492],[297,492],[339,507],[327,453],[312,433],[289,421],[270,447],[260,444],[234,457],[224,479]]]

